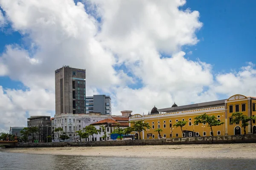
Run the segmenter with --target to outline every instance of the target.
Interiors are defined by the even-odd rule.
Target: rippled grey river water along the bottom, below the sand
[[[0,170],[255,170],[256,159],[135,158],[5,153]]]

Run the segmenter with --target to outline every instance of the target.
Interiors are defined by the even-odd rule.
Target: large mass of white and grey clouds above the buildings
[[[62,65],[86,68],[87,95],[111,94],[113,114],[215,100],[216,92],[232,92],[223,88],[236,90],[226,84],[226,75],[240,84],[255,77],[249,64],[239,74],[217,75],[215,82],[210,64],[184,58],[181,46],[195,45],[195,33],[203,25],[198,11],[180,10],[185,0],[84,2],[91,14],[73,0],[0,0],[6,19],[28,46],[7,44],[0,56],[0,76],[28,87],[26,91],[1,88],[0,99],[5,102],[0,105],[4,117],[0,123],[5,127],[8,120],[26,125],[26,112],[51,114],[54,71]],[[96,17],[101,17],[100,23]],[[124,70],[113,68],[122,65]],[[128,88],[133,83],[141,86]]]

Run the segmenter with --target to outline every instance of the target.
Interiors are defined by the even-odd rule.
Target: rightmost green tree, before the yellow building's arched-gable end
[[[232,113],[231,116],[233,117],[231,123],[239,124],[239,122],[241,121],[242,127],[244,128],[244,135],[246,135],[246,127],[249,125],[248,121],[256,119],[255,116],[248,117],[248,116],[246,116],[246,115],[244,115],[243,113],[240,113],[240,112]]]

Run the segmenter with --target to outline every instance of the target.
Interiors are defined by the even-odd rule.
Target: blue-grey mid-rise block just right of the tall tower
[[[111,98],[106,95],[86,97],[86,113],[101,113],[111,115]]]

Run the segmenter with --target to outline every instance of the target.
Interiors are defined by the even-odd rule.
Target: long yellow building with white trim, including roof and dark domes
[[[231,124],[231,115],[234,112],[244,113],[246,116],[256,115],[256,98],[247,97],[241,94],[231,96],[229,99],[217,100],[212,102],[197,103],[192,105],[177,106],[175,103],[171,108],[157,109],[154,107],[148,115],[135,114],[130,117],[130,121],[144,120],[151,128],[141,133],[142,139],[157,139],[157,128],[163,130],[160,132],[162,137],[175,138],[184,136],[211,136],[210,127],[203,124],[194,125],[194,118],[203,113],[215,115],[217,119],[224,122],[223,125],[212,127],[214,136],[218,135],[240,135],[244,134],[240,124]],[[183,134],[180,127],[173,125],[185,120],[187,124],[183,127]],[[255,120],[249,121],[246,128],[247,134],[256,133]],[[136,133],[135,133],[136,134]],[[137,134],[136,134],[137,135]]]

